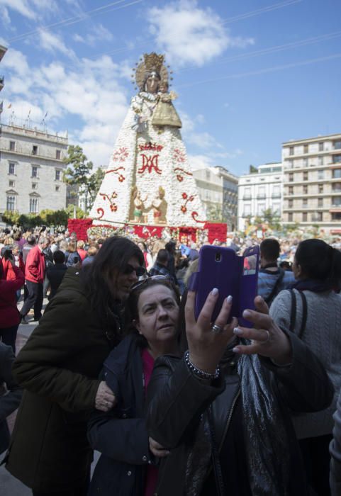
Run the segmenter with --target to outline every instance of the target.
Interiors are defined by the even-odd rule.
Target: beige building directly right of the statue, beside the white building
[[[237,228],[238,177],[224,167],[205,167],[193,171],[196,186],[208,220],[228,224],[228,230]]]

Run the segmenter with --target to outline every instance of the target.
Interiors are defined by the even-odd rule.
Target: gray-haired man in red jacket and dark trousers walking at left
[[[33,247],[26,259],[26,288],[28,297],[21,308],[21,321],[28,323],[26,315],[33,307],[34,320],[39,320],[41,317],[41,309],[43,308],[43,282],[45,276],[45,257],[43,249],[48,247],[48,240],[45,237],[40,237],[38,244]]]

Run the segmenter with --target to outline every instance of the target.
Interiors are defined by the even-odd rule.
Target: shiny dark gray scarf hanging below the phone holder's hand
[[[288,496],[290,461],[285,412],[272,390],[271,373],[257,355],[237,363],[242,390],[245,453],[254,496]],[[279,456],[283,456],[279,462]]]

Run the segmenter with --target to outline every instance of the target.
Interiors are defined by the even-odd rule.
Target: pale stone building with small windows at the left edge
[[[67,137],[0,124],[0,215],[4,210],[27,214],[65,208],[66,155]]]

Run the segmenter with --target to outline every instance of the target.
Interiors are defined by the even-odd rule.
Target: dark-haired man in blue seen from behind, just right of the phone
[[[258,274],[258,294],[270,306],[275,296],[294,283],[294,274],[284,271],[277,264],[279,258],[279,242],[267,238],[260,244],[260,269]]]

